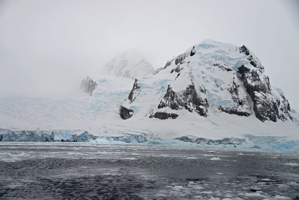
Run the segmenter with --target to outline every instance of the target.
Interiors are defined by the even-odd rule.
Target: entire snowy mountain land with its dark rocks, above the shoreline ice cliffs
[[[120,63],[116,60],[121,59],[109,63]],[[263,65],[246,46],[204,40],[153,73],[145,73],[138,60],[136,68],[126,68],[130,76],[118,76],[119,65],[112,65],[110,75],[90,75],[80,93],[67,99],[0,94],[0,128],[81,129],[107,137],[215,140],[253,134],[299,140],[299,114],[287,94],[271,87]]]

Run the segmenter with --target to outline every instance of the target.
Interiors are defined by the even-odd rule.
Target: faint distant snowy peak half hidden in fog
[[[152,74],[154,69],[147,59],[138,53],[136,49],[129,49],[106,63],[105,70],[108,75],[127,78],[142,78]]]

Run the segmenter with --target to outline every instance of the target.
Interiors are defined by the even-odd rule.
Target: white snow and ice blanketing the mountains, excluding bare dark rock
[[[40,130],[80,129],[96,136],[146,133],[157,135],[161,139],[172,139],[184,135],[209,139],[242,138],[245,134],[252,134],[269,137],[285,136],[281,139],[282,141],[299,140],[299,121],[297,120],[299,115],[295,110],[292,110],[294,122],[291,120],[261,122],[254,113],[246,117],[219,112],[219,105],[232,106],[233,101],[231,94],[227,90],[220,90],[216,83],[221,84],[223,88],[229,87],[228,84],[232,84],[235,75],[233,71],[222,71],[211,64],[217,62],[231,69],[241,64],[248,68],[252,67],[245,54],[240,54],[236,48],[235,45],[214,40],[204,40],[196,44],[196,54],[185,59],[184,69],[177,79],[178,73],[170,73],[176,67],[174,63],[156,75],[152,75],[152,66],[146,60],[135,57],[135,50],[126,51],[107,63],[110,75],[90,76],[97,83],[92,96],[82,91],[65,94],[62,97],[0,94],[0,131],[36,130],[37,128]],[[128,58],[127,62],[125,58]],[[140,60],[143,61],[140,62]],[[126,64],[123,64],[123,61]],[[204,85],[207,89],[206,96],[210,101],[208,117],[199,116],[185,109],[158,109],[158,104],[164,97],[169,84],[174,91],[186,88],[190,81],[186,77],[190,71],[196,75],[194,77],[196,85]],[[144,74],[147,75],[143,76]],[[134,83],[132,79],[137,77],[137,83],[141,89],[131,103],[128,95]],[[239,91],[240,94],[246,93],[244,88],[239,88]],[[134,110],[130,119],[120,118],[120,105]],[[246,108],[240,107],[239,109]],[[253,108],[251,106],[248,109],[252,111]],[[179,116],[176,119],[150,119],[150,113],[157,110],[171,111]],[[96,143],[98,142],[103,141],[97,139]]]

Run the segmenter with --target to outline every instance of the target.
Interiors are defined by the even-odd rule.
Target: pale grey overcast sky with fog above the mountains
[[[0,0],[0,92],[66,92],[127,49],[154,68],[204,39],[246,45],[299,110],[299,1]]]

